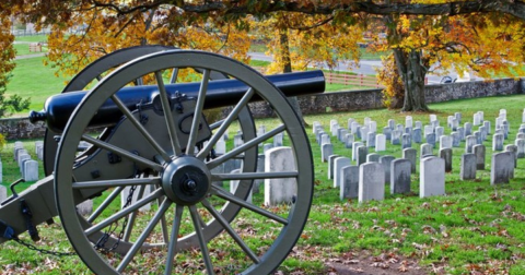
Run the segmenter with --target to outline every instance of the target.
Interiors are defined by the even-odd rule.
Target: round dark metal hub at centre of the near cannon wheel
[[[205,163],[192,156],[175,158],[162,175],[162,188],[177,204],[192,205],[202,201],[211,187],[211,174]]]

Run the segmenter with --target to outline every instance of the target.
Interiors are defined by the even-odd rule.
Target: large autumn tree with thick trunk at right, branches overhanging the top
[[[217,27],[224,27],[225,24],[242,27],[246,24],[244,20],[247,14],[264,17],[273,12],[287,12],[287,14],[290,12],[300,12],[308,15],[335,16],[332,20],[335,23],[348,23],[361,14],[386,16],[389,22],[389,36],[387,41],[389,41],[393,48],[396,65],[405,85],[404,110],[427,109],[421,83],[424,81],[424,75],[429,72],[429,68],[432,69],[430,64],[438,64],[436,60],[439,60],[440,64],[443,64],[443,68],[448,63],[448,60],[456,63],[463,62],[458,64],[459,69],[462,67],[470,67],[474,71],[480,73],[480,75],[482,74],[482,70],[486,69],[491,69],[494,73],[497,73],[497,71],[510,71],[503,69],[500,64],[512,64],[511,62],[523,61],[523,58],[511,58],[517,57],[517,55],[504,55],[505,51],[502,51],[502,59],[499,61],[499,64],[498,62],[494,63],[492,60],[495,60],[493,58],[498,57],[498,55],[487,50],[490,48],[490,44],[482,45],[480,43],[491,43],[485,38],[488,37],[486,35],[505,37],[505,43],[515,43],[514,39],[520,39],[517,38],[518,33],[510,33],[510,29],[504,27],[500,28],[500,24],[502,24],[501,21],[503,21],[503,25],[506,26],[522,24],[521,21],[525,19],[525,2],[518,0],[133,0],[119,2],[109,0],[85,0],[81,2],[47,0],[32,4],[26,4],[26,1],[23,0],[12,0],[7,3],[7,5],[18,7],[24,12],[28,20],[47,25],[67,25],[75,19],[75,14],[83,14],[90,11],[97,12],[98,14],[104,14],[103,17],[105,17],[105,20],[103,23],[106,24],[105,26],[118,22],[120,29],[122,29],[122,26],[127,26],[128,22],[132,23],[136,19],[140,19],[137,14],[140,13],[143,15],[155,12],[159,13],[159,15],[155,15],[154,19],[160,22],[165,22],[166,26],[168,26],[167,29],[170,29],[170,32],[175,31],[174,33],[177,35],[162,36],[164,38],[160,38],[160,40],[164,41],[179,41],[178,37],[184,37],[185,35],[184,32],[179,33],[178,31],[184,31],[186,27],[194,27],[196,25],[199,25],[201,29],[206,29],[207,24],[215,24]],[[432,16],[415,16],[417,14]],[[339,17],[339,15],[342,16]],[[483,17],[483,20],[480,21],[482,23],[477,24],[477,20],[469,20],[466,15],[471,16],[471,19],[472,16]],[[336,17],[345,20],[335,20]],[[518,19],[520,22],[516,22],[516,19]],[[432,27],[427,26],[427,23],[431,23]],[[470,31],[472,34],[479,35],[480,39],[469,41],[468,37],[460,37],[459,34],[464,32],[463,29],[458,31],[457,36],[450,33],[455,31],[456,24],[458,24],[458,29]],[[493,33],[490,26],[497,26],[498,32]],[[104,29],[104,32],[110,31],[110,28],[108,31]],[[115,34],[119,33],[116,32]],[[162,32],[158,34],[160,35]],[[441,37],[438,34],[441,34]],[[292,37],[292,35],[289,35],[289,37]],[[467,39],[452,41],[448,39],[450,37]],[[118,37],[115,36],[115,38]],[[154,39],[152,39],[152,41],[154,41]],[[438,41],[438,44],[434,44],[434,41]],[[202,41],[202,45],[207,44],[207,41]],[[187,40],[186,44],[180,44],[182,47],[186,45],[189,45],[189,40]],[[515,44],[513,44],[512,47],[516,48]],[[293,47],[291,48],[293,49]],[[435,55],[435,57],[427,56],[431,53],[430,50],[432,49],[440,49],[442,53]],[[489,56],[491,56],[491,58],[488,58]]]

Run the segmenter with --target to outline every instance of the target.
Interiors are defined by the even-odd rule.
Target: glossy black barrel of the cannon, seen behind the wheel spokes
[[[268,75],[267,79],[285,96],[317,94],[325,91],[323,71],[273,74]],[[165,86],[168,97],[174,97],[176,93],[196,97],[200,83],[166,84]],[[237,80],[210,81],[206,94],[205,109],[232,105],[232,103],[238,101],[247,89],[248,87]],[[117,92],[117,96],[130,110],[135,110],[140,103],[150,103],[158,92],[159,87],[156,85],[133,86],[121,88]],[[88,93],[89,91],[79,91],[51,96],[46,100],[42,111],[31,111],[30,120],[32,123],[46,121],[49,129],[61,132],[74,108]],[[254,96],[252,101],[258,99],[260,98]],[[120,117],[121,112],[118,107],[108,99],[93,117],[90,125],[113,125],[118,122]]]

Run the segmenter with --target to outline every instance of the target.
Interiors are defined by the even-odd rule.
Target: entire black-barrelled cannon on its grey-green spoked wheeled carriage
[[[103,57],[31,113],[48,125],[47,177],[1,202],[0,243],[25,231],[38,239],[36,226],[59,216],[95,274],[141,273],[148,261],[172,274],[180,258],[197,258],[206,274],[269,274],[301,237],[314,186],[308,139],[285,96],[324,86],[320,71],[265,77],[226,57],[163,46]],[[253,101],[272,108],[269,131],[258,131]],[[224,116],[211,121],[211,108]],[[228,131],[242,142],[215,151]],[[261,145],[278,134],[295,168],[261,171]],[[88,148],[79,151],[81,143]],[[223,171],[225,164],[238,172]],[[293,200],[279,207],[262,205],[261,195],[250,202],[254,186],[272,179],[295,186]],[[81,215],[77,206],[88,200],[94,211]],[[253,228],[250,220],[268,226]],[[237,264],[223,266],[217,243],[228,243]]]

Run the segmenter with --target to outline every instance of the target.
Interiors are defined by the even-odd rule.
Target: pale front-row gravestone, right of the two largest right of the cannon
[[[419,168],[419,196],[445,194],[445,160],[441,157],[425,157]]]

